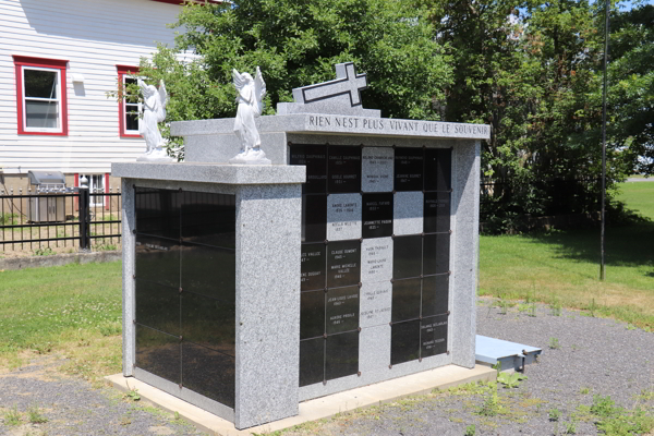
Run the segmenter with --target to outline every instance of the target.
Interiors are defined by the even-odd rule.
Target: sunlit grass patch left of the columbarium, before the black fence
[[[0,271],[0,361],[59,352],[97,379],[121,370],[121,263]]]

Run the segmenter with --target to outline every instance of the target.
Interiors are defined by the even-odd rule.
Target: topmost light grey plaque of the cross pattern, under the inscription
[[[393,183],[393,149],[363,147],[361,150],[361,191],[391,192]]]

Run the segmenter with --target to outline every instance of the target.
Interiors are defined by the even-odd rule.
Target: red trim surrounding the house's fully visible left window
[[[19,118],[19,135],[48,135],[68,136],[68,86],[65,68],[68,61],[61,59],[33,58],[28,56],[13,56],[16,76],[16,112]],[[37,66],[58,69],[61,78],[61,132],[31,132],[23,125],[23,66]]]

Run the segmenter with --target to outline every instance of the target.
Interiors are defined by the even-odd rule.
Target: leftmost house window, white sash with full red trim
[[[19,134],[68,135],[68,61],[14,56]]]

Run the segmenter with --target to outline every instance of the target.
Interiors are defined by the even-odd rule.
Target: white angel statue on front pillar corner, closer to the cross
[[[254,121],[264,111],[263,99],[266,95],[266,83],[262,76],[262,71],[257,66],[253,80],[250,74],[239,73],[233,69],[232,77],[239,92],[234,133],[241,142],[241,153],[229,161],[231,164],[269,165],[270,160],[266,159],[266,154],[259,148],[262,140]]]

